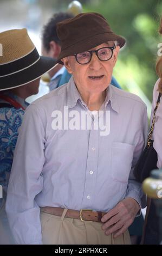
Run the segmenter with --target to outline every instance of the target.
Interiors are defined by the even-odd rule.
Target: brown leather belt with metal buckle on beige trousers
[[[41,211],[46,212],[47,214],[52,214],[56,216],[62,216],[63,214],[63,208],[59,207],[42,207]],[[92,210],[67,210],[66,215],[64,217],[66,218],[76,218],[78,220],[81,220],[83,222],[92,222],[92,221],[97,221],[101,222],[101,218],[106,214],[106,212],[101,212],[101,211],[92,211]]]

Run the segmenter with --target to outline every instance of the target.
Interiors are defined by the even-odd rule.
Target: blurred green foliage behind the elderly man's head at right
[[[80,1],[81,2],[81,1]],[[152,91],[157,75],[155,62],[162,2],[159,0],[100,0],[83,5],[84,11],[96,11],[106,17],[115,33],[126,38],[126,47],[120,51],[114,76],[122,88],[147,96]]]

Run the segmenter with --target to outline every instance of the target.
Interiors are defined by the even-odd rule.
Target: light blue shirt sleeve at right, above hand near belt
[[[132,161],[132,168],[129,174],[128,186],[125,198],[134,198],[140,205],[141,208],[146,206],[146,196],[142,191],[140,182],[138,182],[133,174],[135,164],[137,163],[142,151],[147,142],[148,136],[148,121],[147,121],[147,109],[146,106],[141,110],[141,118],[139,119],[139,129],[135,136],[135,149]]]

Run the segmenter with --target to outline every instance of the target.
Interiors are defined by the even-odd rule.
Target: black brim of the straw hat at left
[[[55,64],[56,60],[53,58],[40,56],[40,59],[29,68],[12,75],[0,77],[0,91],[28,84],[53,69]]]

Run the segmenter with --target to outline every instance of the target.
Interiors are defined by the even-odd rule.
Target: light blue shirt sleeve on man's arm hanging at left
[[[40,208],[35,197],[42,191],[45,132],[38,108],[24,114],[11,169],[6,211],[18,244],[41,244]]]

